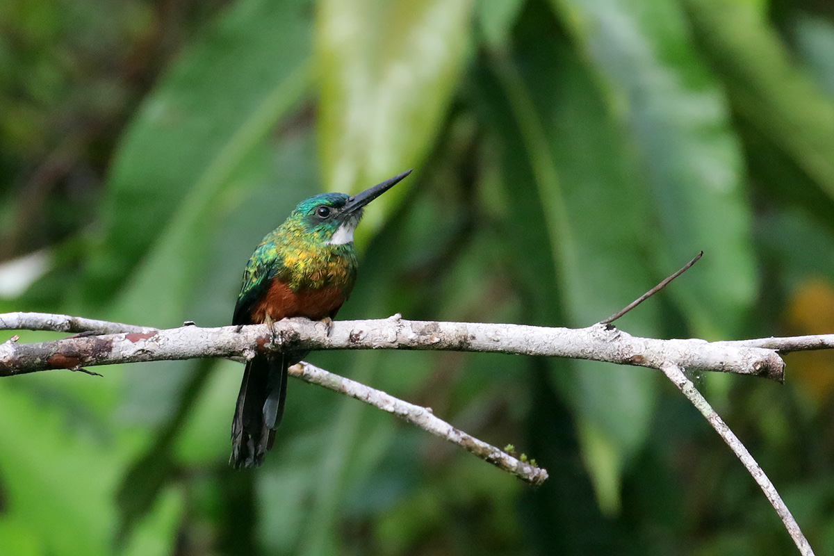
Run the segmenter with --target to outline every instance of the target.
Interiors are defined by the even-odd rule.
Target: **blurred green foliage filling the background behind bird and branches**
[[[340,318],[586,326],[703,249],[620,328],[834,332],[830,3],[9,0],[0,31],[4,312],[227,324],[295,203],[414,167],[360,227]],[[264,468],[235,473],[239,364],[37,373],[0,381],[0,553],[793,550],[659,373],[309,359],[515,444],[550,480],[303,383]],[[834,361],[787,363],[785,386],[701,385],[834,553]]]

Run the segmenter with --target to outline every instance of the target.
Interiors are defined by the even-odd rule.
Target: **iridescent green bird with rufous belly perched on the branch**
[[[356,282],[354,229],[364,207],[411,173],[349,196],[321,193],[298,204],[255,248],[244,270],[232,323],[304,317],[327,323]],[[246,363],[232,421],[234,468],[257,468],[272,448],[284,414],[287,369],[309,352],[256,354]]]

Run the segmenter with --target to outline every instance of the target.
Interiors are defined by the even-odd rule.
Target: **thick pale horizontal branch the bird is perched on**
[[[286,348],[422,349],[512,353],[605,361],[661,368],[752,374],[782,381],[784,363],[773,349],[699,339],[639,338],[610,325],[545,328],[520,324],[410,321],[394,315],[379,320],[324,323],[285,319],[242,328],[185,326],[145,332],[63,338],[0,345],[0,376],[53,368],[166,359],[251,357]]]

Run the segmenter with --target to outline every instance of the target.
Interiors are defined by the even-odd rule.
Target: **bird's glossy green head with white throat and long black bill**
[[[368,203],[411,173],[401,173],[383,183],[365,189],[353,197],[344,193],[321,193],[304,199],[288,218],[294,228],[314,237],[326,245],[344,245],[354,241],[354,229],[362,218],[362,211]]]

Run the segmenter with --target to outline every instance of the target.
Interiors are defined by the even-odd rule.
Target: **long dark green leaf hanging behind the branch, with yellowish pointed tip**
[[[552,287],[560,291],[568,322],[551,324],[586,326],[651,287],[651,273],[641,263],[649,247],[651,211],[625,134],[592,76],[565,48],[564,39],[540,40],[546,33],[555,34],[552,15],[530,11],[515,56],[499,52],[493,58],[517,133],[504,132],[510,145],[505,158],[514,208],[510,218],[525,228],[545,230],[550,253],[537,253],[533,234],[540,237],[540,232],[515,241],[525,245],[523,258],[555,261]],[[520,168],[521,158],[529,171]],[[530,205],[530,193],[540,206]],[[551,287],[546,276],[532,279]],[[657,331],[656,319],[656,306],[644,306],[626,322],[636,333],[651,334]],[[570,378],[563,371],[554,378],[575,409],[600,505],[614,510],[622,469],[648,432],[654,382],[651,373],[630,368],[589,362],[571,367]]]

